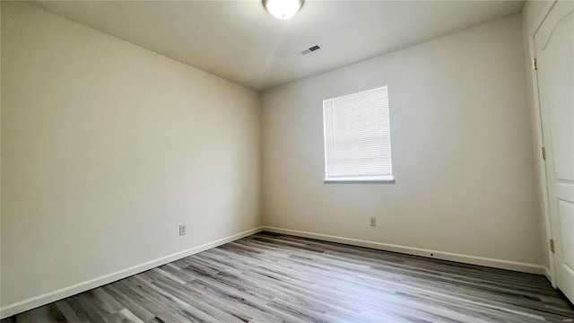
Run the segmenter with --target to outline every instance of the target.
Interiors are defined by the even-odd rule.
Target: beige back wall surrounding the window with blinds
[[[324,184],[322,100],[382,84],[396,184]],[[262,127],[266,226],[540,269],[520,15],[264,92]]]

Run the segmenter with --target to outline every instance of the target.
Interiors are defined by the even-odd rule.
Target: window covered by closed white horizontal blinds
[[[387,86],[323,100],[325,181],[393,181]]]

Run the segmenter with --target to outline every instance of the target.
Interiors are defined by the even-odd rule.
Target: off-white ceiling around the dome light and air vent
[[[524,1],[307,1],[291,20],[260,1],[33,2],[256,90],[519,13]],[[322,49],[301,56],[300,49]]]

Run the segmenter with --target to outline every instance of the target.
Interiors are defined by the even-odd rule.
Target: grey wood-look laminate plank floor
[[[541,275],[257,233],[12,322],[572,322]]]

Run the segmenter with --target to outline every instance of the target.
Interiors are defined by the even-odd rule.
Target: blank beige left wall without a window
[[[4,310],[261,225],[257,92],[12,2],[1,81]]]

